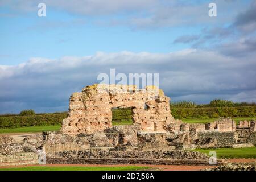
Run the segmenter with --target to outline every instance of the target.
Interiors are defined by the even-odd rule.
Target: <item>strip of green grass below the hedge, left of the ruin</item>
[[[31,127],[17,127],[14,129],[0,129],[0,133],[30,133],[42,131],[57,131],[60,130],[60,125],[53,126],[31,126]]]

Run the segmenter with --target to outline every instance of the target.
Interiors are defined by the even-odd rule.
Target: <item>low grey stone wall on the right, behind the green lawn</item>
[[[214,138],[217,140],[218,147],[228,147],[237,143],[238,135],[235,132],[205,131],[198,133],[198,139]]]

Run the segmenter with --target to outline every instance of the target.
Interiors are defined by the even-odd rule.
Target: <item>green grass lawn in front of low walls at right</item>
[[[212,148],[212,149],[196,149],[193,151],[199,151],[204,152],[207,155],[209,154],[209,151],[216,151],[217,158],[224,159],[224,158],[230,158],[230,159],[238,159],[238,158],[245,158],[245,159],[256,159],[256,147],[250,147],[250,148]]]

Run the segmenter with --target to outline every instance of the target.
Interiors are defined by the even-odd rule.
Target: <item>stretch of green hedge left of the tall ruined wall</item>
[[[67,116],[63,113],[0,117],[0,128],[60,125]]]

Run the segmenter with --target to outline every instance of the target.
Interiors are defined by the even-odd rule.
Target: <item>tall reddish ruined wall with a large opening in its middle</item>
[[[165,131],[166,126],[174,121],[170,114],[169,101],[170,98],[155,87],[138,90],[134,85],[86,86],[82,92],[72,94],[69,115],[63,120],[61,131],[64,134],[77,135],[109,129],[112,127],[113,107],[131,107],[133,122],[142,131]]]

